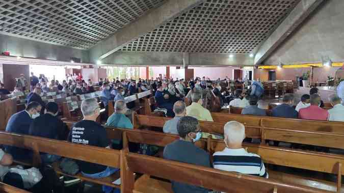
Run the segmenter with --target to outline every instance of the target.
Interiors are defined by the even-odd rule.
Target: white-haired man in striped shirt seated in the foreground
[[[245,126],[230,121],[224,126],[226,147],[213,154],[214,168],[228,172],[239,172],[268,178],[264,163],[259,155],[248,153],[242,146],[245,139]]]

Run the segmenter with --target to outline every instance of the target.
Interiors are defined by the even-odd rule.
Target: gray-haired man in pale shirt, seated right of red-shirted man
[[[341,98],[334,94],[330,96],[330,102],[333,108],[328,111],[329,121],[344,122],[344,106],[341,104]]]

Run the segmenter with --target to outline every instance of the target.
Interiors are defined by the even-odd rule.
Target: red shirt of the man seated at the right
[[[307,108],[301,108],[299,111],[299,119],[310,119],[327,121],[329,112],[316,105],[310,105]]]

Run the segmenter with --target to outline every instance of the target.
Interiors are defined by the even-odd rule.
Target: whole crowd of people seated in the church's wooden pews
[[[36,78],[32,77],[31,80],[36,81]],[[37,79],[37,84],[31,87],[33,90],[27,97],[27,107],[24,111],[11,116],[6,131],[49,139],[66,140],[68,130],[57,116],[57,103],[48,102],[45,104],[41,98],[41,93],[44,90],[46,92],[65,90],[68,92],[72,91],[75,94],[84,94],[93,89],[92,82],[91,80],[85,82],[82,77],[74,80],[73,77],[70,78],[68,76],[68,79],[63,81],[61,88],[58,81],[50,81],[49,86],[46,87],[46,77],[40,76]],[[106,125],[133,129],[133,124],[126,117],[128,112],[127,105],[130,104],[126,104],[124,97],[136,94],[139,90],[146,91],[151,89],[155,93],[158,107],[166,108],[166,115],[173,117],[173,119],[165,123],[163,131],[165,133],[177,134],[180,137],[179,140],[165,147],[163,155],[165,159],[268,178],[269,175],[259,155],[249,153],[242,147],[242,142],[245,139],[245,126],[239,122],[230,121],[225,124],[224,142],[226,147],[223,151],[213,154],[213,165],[211,165],[209,154],[195,146],[195,142],[202,137],[199,121],[213,121],[209,110],[202,106],[205,101],[204,96],[206,96],[204,92],[208,89],[209,82],[207,79],[205,77],[197,77],[190,80],[188,84],[190,88],[186,87],[183,79],[151,78],[148,80],[139,79],[138,81],[119,78],[112,81],[108,78],[100,79],[98,86],[101,86],[101,102],[106,107],[109,102],[114,101],[114,114],[109,115]],[[241,82],[240,80],[237,81]],[[242,90],[235,90],[234,98],[228,101],[229,105],[243,107],[243,115],[266,116],[266,111],[258,108],[258,100],[262,94],[259,88],[261,84],[258,81],[254,82],[257,82],[255,88],[248,95],[244,95]],[[210,90],[223,95],[219,84],[215,84]],[[19,91],[20,88],[15,88],[14,92]],[[296,108],[293,107],[294,95],[285,94],[282,98],[282,104],[272,109],[272,116],[293,119],[344,121],[342,116],[344,115],[344,107],[341,104],[341,99],[337,95],[332,95],[329,100],[333,108],[327,111],[321,108],[321,97],[319,94],[314,93],[315,91],[315,89],[311,89],[310,95],[303,95]],[[187,97],[186,93],[190,93],[192,101],[189,106],[183,101]],[[97,117],[100,115],[100,106],[95,98],[83,100],[81,111],[84,119],[75,123],[71,128],[67,137],[69,142],[103,148],[112,148],[114,143],[120,143],[110,141],[105,128],[96,122]],[[72,134],[73,132],[80,134],[76,136]],[[8,154],[0,150],[0,165],[2,166],[10,164],[12,156],[14,159],[30,159],[32,156],[30,151],[16,147],[5,147],[5,151]],[[60,158],[57,155],[41,154],[43,163],[52,163]],[[77,164],[81,169],[82,175],[95,179],[108,177],[119,170],[83,161],[77,161]],[[172,188],[174,192],[209,191],[202,187],[180,182],[172,182]],[[114,190],[111,187],[103,186],[103,191],[113,192]]]

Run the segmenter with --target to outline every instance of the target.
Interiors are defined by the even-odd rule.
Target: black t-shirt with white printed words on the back
[[[103,148],[110,145],[105,128],[99,123],[89,120],[82,120],[75,123],[70,130],[68,141]],[[104,159],[107,158],[104,157]],[[107,166],[85,161],[77,161],[77,164],[80,170],[86,174],[95,174],[107,169]]]

